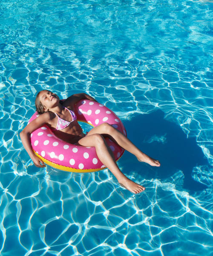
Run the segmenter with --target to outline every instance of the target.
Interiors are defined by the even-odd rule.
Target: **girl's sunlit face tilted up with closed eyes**
[[[49,90],[43,90],[39,94],[39,100],[44,106],[45,111],[48,111],[49,109],[56,107],[60,99],[55,93],[52,93]]]

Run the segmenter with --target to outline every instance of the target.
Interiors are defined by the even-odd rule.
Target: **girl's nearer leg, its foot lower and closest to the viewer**
[[[118,168],[117,163],[115,162],[113,153],[109,146],[107,145],[104,137],[101,134],[92,134],[86,137],[83,137],[78,141],[77,145],[81,146],[92,146],[95,147],[96,154],[101,162],[112,172],[113,175],[117,178],[121,186],[124,186],[126,189],[130,190],[132,193],[140,193],[144,191],[144,187],[128,179]]]

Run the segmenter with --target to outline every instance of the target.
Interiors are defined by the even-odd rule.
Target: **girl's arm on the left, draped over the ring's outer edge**
[[[31,145],[30,135],[33,131],[40,128],[44,124],[48,123],[52,119],[52,115],[49,112],[43,113],[40,116],[38,116],[36,119],[34,119],[32,122],[27,125],[23,131],[20,132],[20,138],[23,143],[24,148],[26,149],[27,153],[29,154],[29,157],[32,159],[33,163],[37,167],[45,167],[43,161],[37,157],[37,155],[34,153]]]

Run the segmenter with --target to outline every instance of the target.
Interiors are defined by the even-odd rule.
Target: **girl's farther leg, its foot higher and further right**
[[[108,123],[103,123],[92,128],[88,135],[92,134],[102,134],[104,137],[109,137],[110,140],[114,141],[122,148],[134,154],[140,162],[149,163],[151,166],[160,166],[160,162],[158,160],[155,160],[144,154],[127,137],[125,137],[120,131]]]

